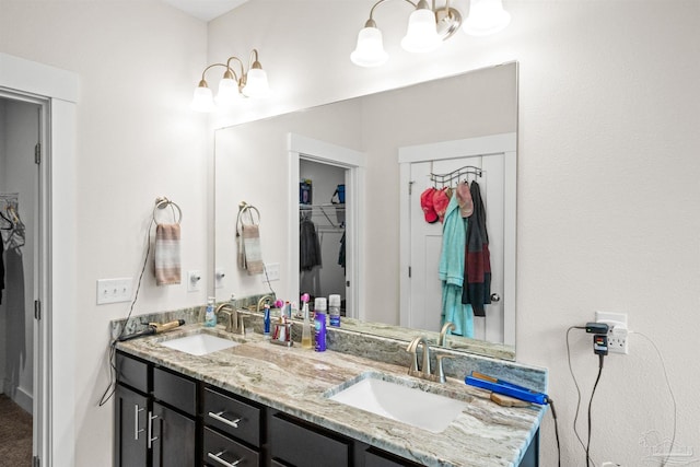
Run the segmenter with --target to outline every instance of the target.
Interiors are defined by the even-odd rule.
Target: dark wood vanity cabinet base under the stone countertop
[[[420,464],[117,352],[117,467],[418,467]],[[539,431],[521,467],[538,465]]]

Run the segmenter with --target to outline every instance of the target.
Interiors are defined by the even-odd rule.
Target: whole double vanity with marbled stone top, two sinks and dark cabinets
[[[545,390],[546,371],[462,353],[439,383],[398,364],[405,341],[352,339],[331,330],[315,352],[194,324],[119,342],[115,465],[537,465],[546,409],[499,406],[464,376]]]

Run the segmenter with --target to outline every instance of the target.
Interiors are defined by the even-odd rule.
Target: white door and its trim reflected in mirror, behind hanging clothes
[[[421,194],[429,187],[456,186],[467,179],[478,182],[487,211],[487,231],[491,253],[491,293],[498,295],[485,306],[483,317],[474,317],[474,337],[491,342],[514,343],[509,325],[514,315],[515,262],[506,252],[514,248],[515,230],[509,213],[515,212],[515,191],[510,182],[515,171],[514,136],[501,135],[436,144],[402,148],[399,162],[402,182],[410,183],[406,208],[401,210],[401,261],[409,273],[401,276],[401,325],[438,331],[441,327],[443,284],[439,277],[443,224],[429,223],[421,206]],[[480,176],[458,176],[435,183],[431,175],[462,173],[465,166],[481,168]],[[440,177],[438,177],[440,179]],[[405,246],[405,247],[404,247]],[[494,295],[492,295],[494,296]]]

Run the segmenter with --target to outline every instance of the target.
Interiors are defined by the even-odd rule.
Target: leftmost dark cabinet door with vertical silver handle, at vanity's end
[[[148,465],[148,399],[117,384],[115,392],[116,467]]]

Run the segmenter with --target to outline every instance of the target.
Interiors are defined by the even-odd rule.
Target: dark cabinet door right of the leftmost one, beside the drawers
[[[197,458],[197,428],[176,411],[153,404],[151,446],[154,467],[192,467]]]

